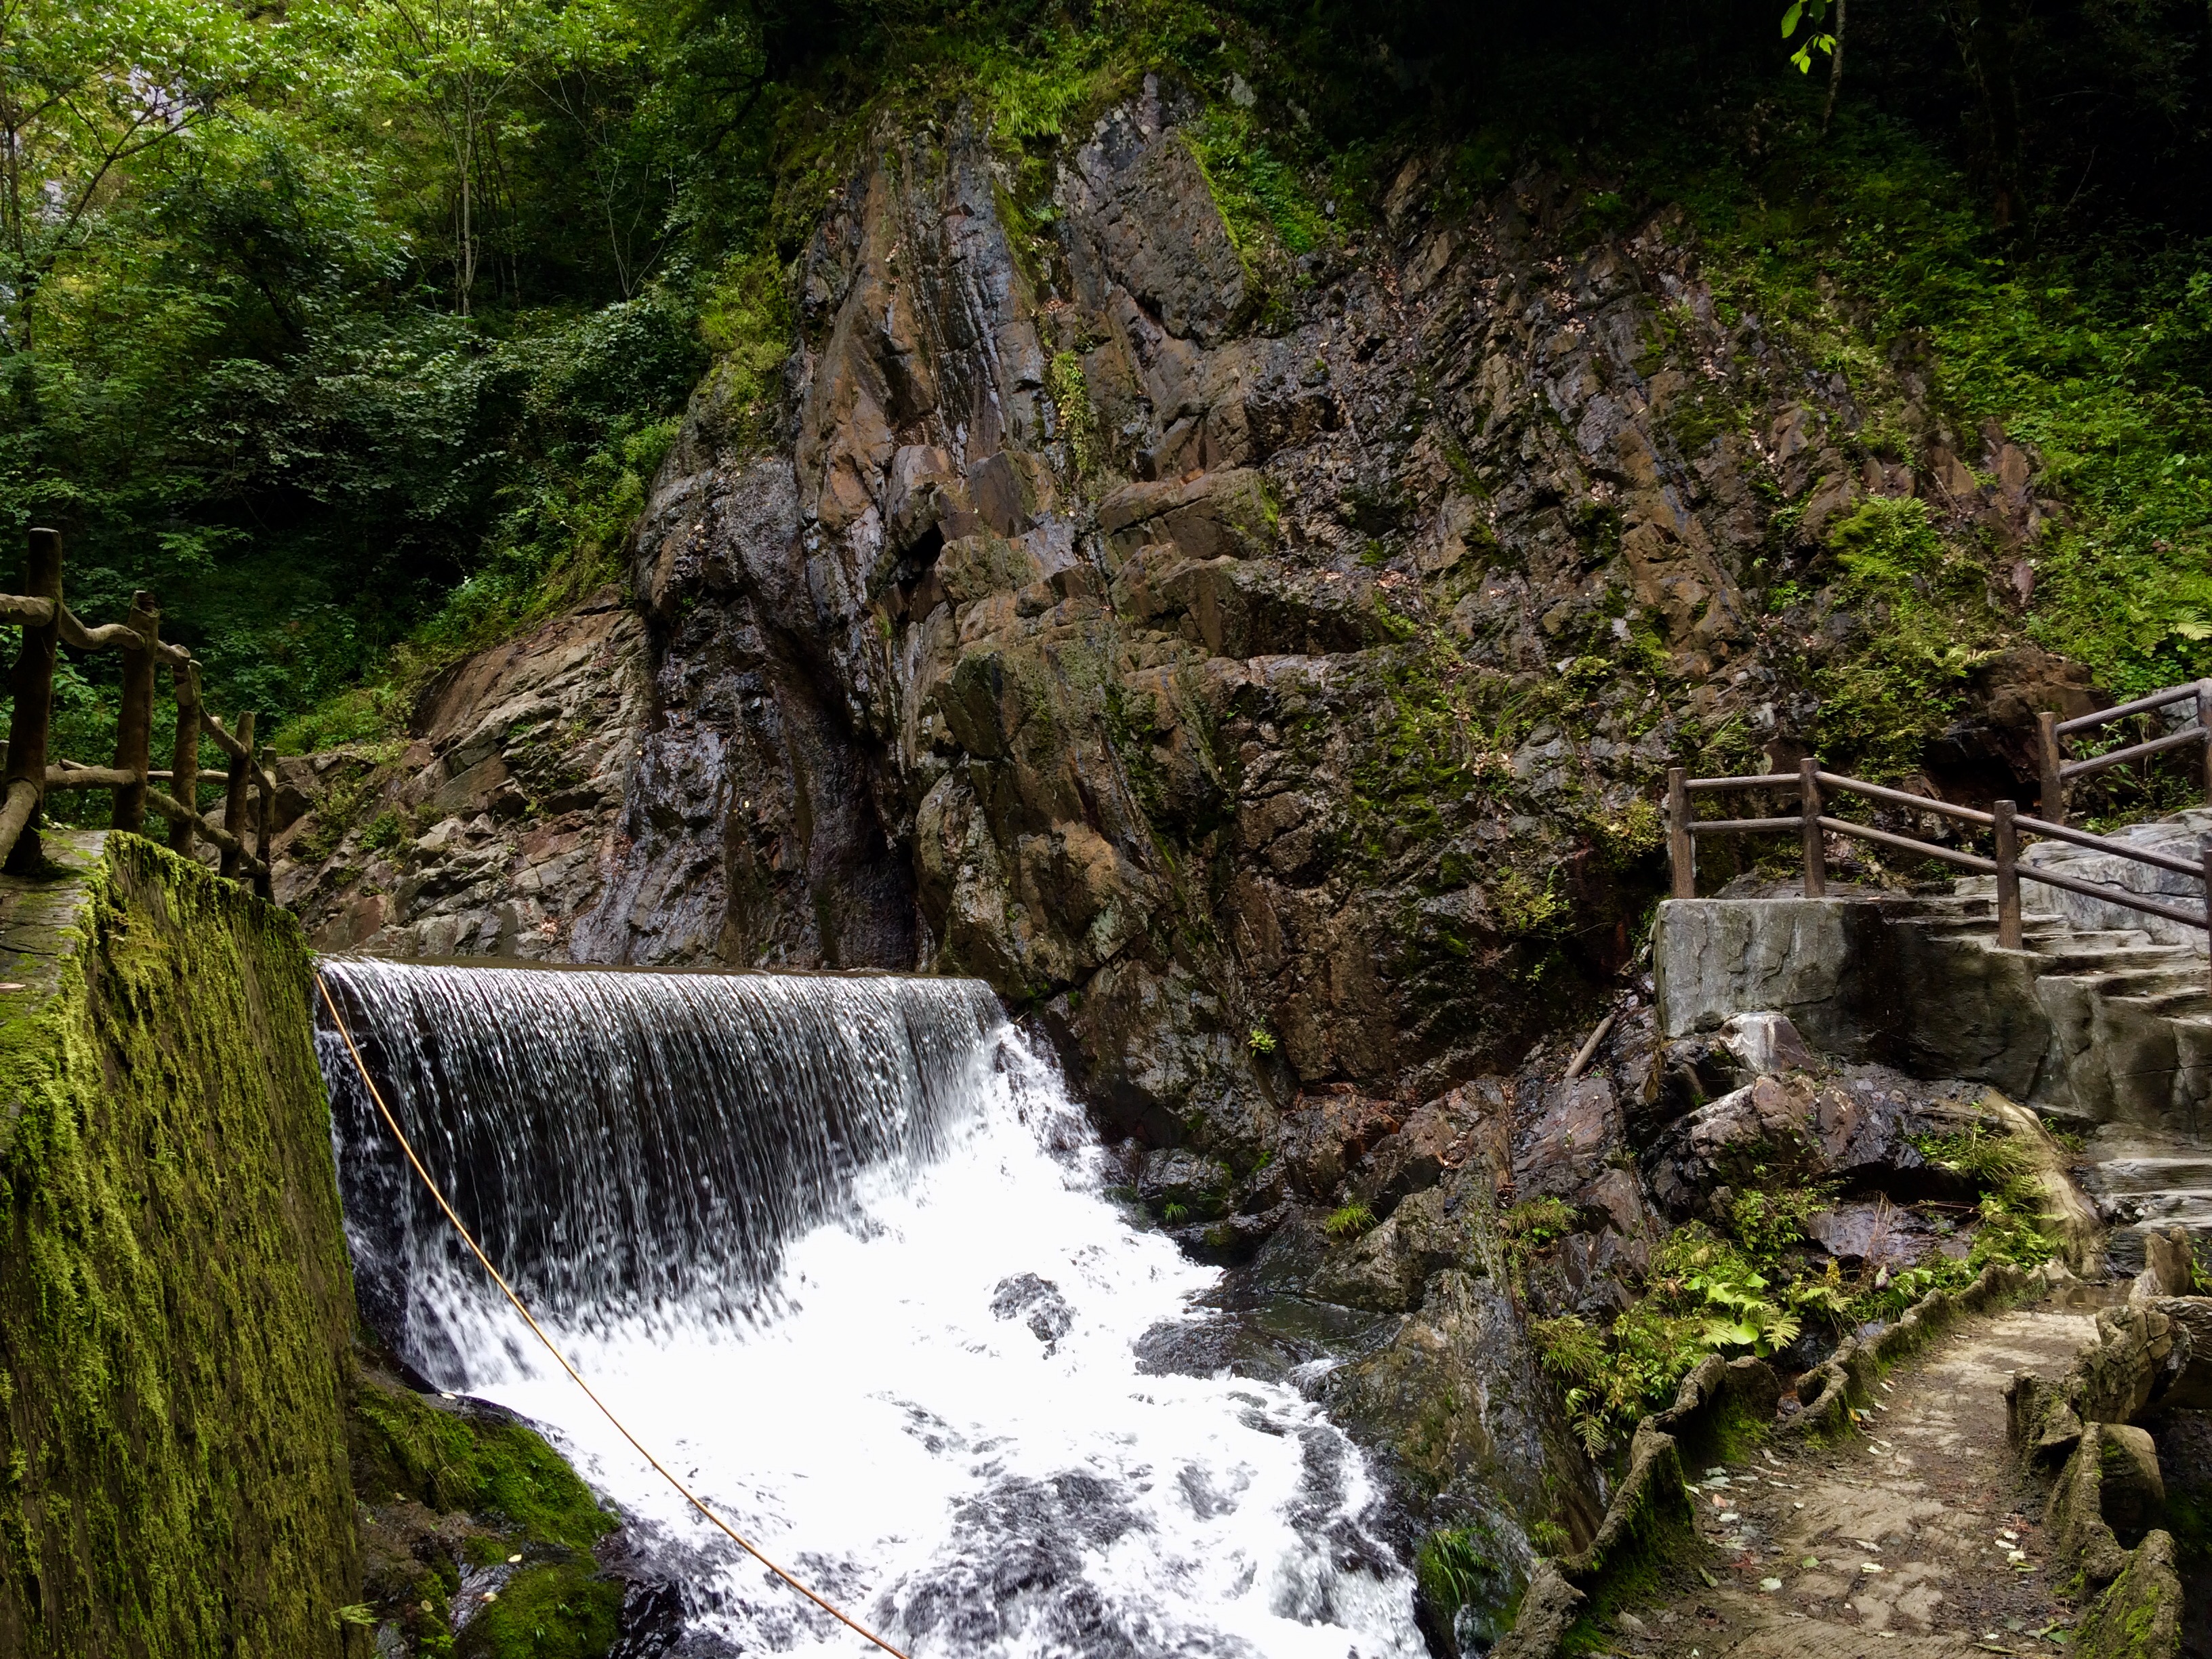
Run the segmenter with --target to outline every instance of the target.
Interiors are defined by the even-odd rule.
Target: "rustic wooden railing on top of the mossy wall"
[[[11,690],[13,721],[7,734],[7,799],[0,803],[0,865],[35,872],[40,807],[53,790],[113,790],[115,830],[144,832],[146,812],[168,821],[168,845],[190,856],[204,838],[221,854],[221,874],[252,880],[270,896],[270,812],[276,785],[254,752],[254,717],[239,714],[237,730],[223,726],[199,701],[199,664],[184,646],[161,644],[161,613],[153,595],[131,599],[131,615],[88,628],[62,602],[62,538],[31,531],[24,560],[24,591],[0,593],[0,626],[22,628]],[[60,646],[73,650],[119,650],[124,659],[122,706],[115,712],[115,763],[86,765],[51,759],[53,661]],[[153,699],[157,668],[168,666],[177,699],[177,748],[166,772],[153,770]],[[230,757],[223,776],[223,823],[199,812],[199,745],[212,739]],[[153,787],[157,781],[168,790]],[[248,845],[248,821],[252,845]]]

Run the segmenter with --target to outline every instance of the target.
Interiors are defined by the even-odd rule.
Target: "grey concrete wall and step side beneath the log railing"
[[[1652,960],[1668,1037],[1772,1009],[1816,1048],[2073,1117],[2194,1128],[2205,1108],[2212,1024],[1997,949],[1922,900],[1677,898],[1659,905]]]

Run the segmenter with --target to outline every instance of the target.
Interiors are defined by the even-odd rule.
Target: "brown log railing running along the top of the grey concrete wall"
[[[2192,732],[2194,737],[2194,732]],[[1697,794],[1719,794],[1719,792],[1785,792],[1796,796],[1796,812],[1785,818],[1697,818],[1692,812],[1692,796]],[[1931,812],[1953,823],[1971,823],[1980,830],[1989,830],[1995,841],[1995,858],[1982,858],[1973,852],[1962,852],[1960,847],[1944,847],[1936,841],[1920,841],[1918,836],[1900,836],[1891,830],[1876,830],[1867,823],[1851,823],[1849,818],[1836,818],[1825,812],[1825,803],[1834,794],[1854,794],[1863,801],[1874,801],[1880,805],[1911,807],[1913,812]],[[2197,858],[2177,858],[2168,852],[2157,852],[2154,847],[2139,847],[2132,841],[2115,841],[2112,836],[2097,836],[2088,830],[2075,830],[2066,823],[2055,823],[2051,818],[2024,818],[2013,801],[1997,801],[1993,812],[1975,812],[1973,807],[1958,807],[1949,801],[1931,801],[1920,794],[1907,794],[1905,790],[1889,790],[1880,783],[1863,783],[1860,779],[1838,776],[1836,772],[1823,772],[1818,761],[1801,761],[1796,774],[1790,772],[1765,772],[1754,776],[1732,776],[1732,779],[1692,779],[1683,768],[1672,768],[1666,774],[1666,799],[1668,799],[1668,863],[1674,874],[1674,898],[1697,898],[1697,841],[1699,836],[1752,836],[1752,834],[1790,834],[1796,836],[1803,847],[1805,860],[1805,896],[1820,898],[1827,891],[1827,843],[1825,836],[1854,836],[1858,841],[1871,841],[1880,847],[1893,852],[1909,852],[1920,858],[1936,858],[1960,869],[1971,869],[1982,876],[1997,878],[1997,947],[2006,951],[2017,951],[2022,947],[2020,927],[2020,883],[2033,880],[2044,887],[2059,887],[2068,894],[2081,894],[2086,898],[2099,898],[2108,905],[2119,905],[2124,909],[2141,911],[2143,916],[2161,916],[2170,922],[2183,927],[2203,927],[2212,931],[2212,836],[2201,836],[2197,843]],[[2150,865],[2152,869],[2170,869],[2181,876],[2194,876],[2205,883],[2205,902],[2197,907],[2174,905],[2161,898],[2150,898],[2148,894],[2137,894],[2126,887],[2112,887],[2095,880],[2079,880],[2077,876],[2062,876],[2055,869],[2039,869],[2020,858],[2020,838],[2042,836],[2046,841],[2066,841],[2075,847],[2090,847],[2093,852],[2106,852],[2115,858],[2128,858],[2139,865]]]

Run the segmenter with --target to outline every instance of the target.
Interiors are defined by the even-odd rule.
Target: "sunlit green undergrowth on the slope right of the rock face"
[[[2066,504],[2028,551],[2035,639],[2117,695],[2212,668],[2205,248],[2150,234],[2006,243],[1960,168],[1898,119],[1838,119],[1827,139],[1792,124],[1776,139],[1756,170],[1719,153],[1652,157],[1648,188],[1688,199],[1723,296],[1845,376],[1876,411],[1865,436],[1891,458],[1920,460],[1907,422],[1927,418],[1898,383],[1893,347],[1924,367],[1953,429],[1997,420],[2033,451],[2037,493]],[[1790,188],[1759,190],[1756,177]],[[1922,608],[1955,606],[1951,644],[1982,644],[1978,560],[1953,546],[1933,575]],[[1893,655],[1951,695],[1940,628],[1916,624]]]

